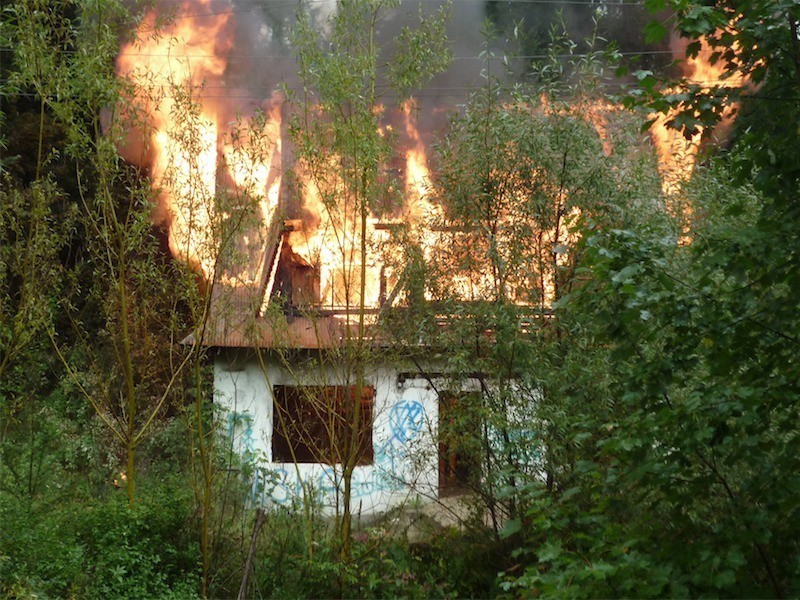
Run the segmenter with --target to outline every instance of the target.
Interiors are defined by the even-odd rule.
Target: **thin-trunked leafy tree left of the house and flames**
[[[65,2],[47,7],[18,3],[12,10],[17,78],[20,84],[36,90],[42,110],[46,107],[64,127],[67,152],[79,165],[79,198],[73,202],[81,207],[84,231],[91,238],[85,248],[96,277],[93,295],[84,307],[91,306],[90,310],[99,311],[105,318],[103,333],[95,337],[90,333],[94,324],[87,328],[85,316],[73,312],[75,304],[66,299],[60,304],[75,325],[79,353],[88,359],[83,375],[52,331],[51,336],[70,376],[125,448],[125,476],[133,504],[135,450],[163,407],[167,393],[156,392],[153,404],[149,399],[144,402],[145,396],[154,393],[146,390],[164,373],[149,358],[157,346],[133,341],[147,339],[152,331],[148,318],[153,316],[143,314],[143,305],[135,298],[164,297],[164,278],[157,277],[158,266],[153,262],[156,245],[148,195],[146,188],[137,184],[135,174],[126,172],[120,164],[114,132],[105,135],[101,125],[101,111],[114,104],[118,90],[113,72],[118,35],[102,20],[119,27],[126,13],[113,3],[83,6]],[[74,24],[66,19],[70,13],[78,15]],[[39,35],[42,31],[48,34]],[[84,45],[86,40],[92,40],[91,47]],[[69,93],[61,91],[59,85]],[[130,193],[122,202],[119,191],[125,184]],[[78,264],[79,269],[84,266]],[[78,279],[76,283],[84,282]],[[84,299],[76,300],[80,303]],[[100,340],[108,345],[96,352],[96,348],[105,346]],[[147,412],[142,419],[143,410]]]

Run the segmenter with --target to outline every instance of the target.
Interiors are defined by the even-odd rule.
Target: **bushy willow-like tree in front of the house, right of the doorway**
[[[553,309],[584,283],[582,235],[658,204],[653,164],[635,149],[631,117],[593,87],[603,53],[592,57],[568,69],[584,75],[574,87],[487,76],[438,146],[446,168],[431,195],[441,210],[423,252],[434,302],[417,307],[405,333],[422,335],[453,374],[437,390],[440,416],[455,394],[440,435],[450,458],[472,466],[460,483],[480,496],[498,538],[527,522],[524,490],[552,484],[558,468],[548,430],[561,419],[542,406],[571,343]]]

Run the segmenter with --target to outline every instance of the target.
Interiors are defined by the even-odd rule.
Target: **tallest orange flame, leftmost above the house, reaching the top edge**
[[[182,8],[196,12],[198,4],[210,7],[205,0]],[[214,107],[199,94],[225,72],[230,15],[177,18],[165,30],[156,23],[156,11],[148,11],[136,39],[121,49],[117,73],[133,83],[134,102],[150,119],[145,146],[154,154],[151,176],[170,217],[170,249],[210,278],[219,131]]]

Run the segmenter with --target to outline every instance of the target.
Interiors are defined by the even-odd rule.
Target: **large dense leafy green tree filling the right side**
[[[797,8],[651,3],[667,4],[687,51],[704,35],[725,65],[721,83],[744,73],[760,87],[682,82],[652,104],[675,109],[673,125],[691,135],[742,102],[731,148],[681,192],[691,243],[652,219],[585,233],[591,278],[560,311],[570,377],[545,413],[569,416],[554,439],[556,493],[536,492],[529,516],[543,535],[515,583],[589,596],[793,595],[797,133],[786,119]],[[783,131],[769,97],[787,103]]]

